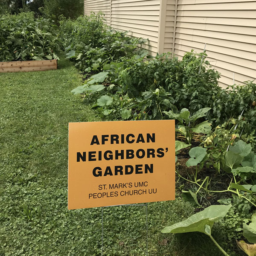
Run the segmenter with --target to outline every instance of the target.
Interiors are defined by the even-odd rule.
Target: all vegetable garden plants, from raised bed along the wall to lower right
[[[256,246],[248,244],[256,244],[253,81],[222,89],[205,52],[187,52],[182,60],[151,57],[143,49],[145,39],[111,29],[100,14],[62,19],[58,29],[32,14],[0,21],[0,61],[53,59],[64,50],[84,77],[72,92],[103,119],[175,119],[176,193],[197,213],[163,233],[199,231],[224,255],[233,255],[211,234],[223,218],[225,242],[237,239],[247,255],[256,255]]]

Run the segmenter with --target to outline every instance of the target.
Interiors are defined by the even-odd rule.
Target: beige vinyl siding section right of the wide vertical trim
[[[226,87],[256,78],[255,0],[178,0],[175,55],[195,49],[221,73]],[[171,45],[169,45],[171,46]]]

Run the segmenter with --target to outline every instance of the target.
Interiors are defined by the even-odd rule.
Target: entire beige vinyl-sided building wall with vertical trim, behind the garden
[[[256,79],[256,0],[84,0],[84,14],[105,12],[108,25],[149,39],[151,55],[194,49],[226,87]]]

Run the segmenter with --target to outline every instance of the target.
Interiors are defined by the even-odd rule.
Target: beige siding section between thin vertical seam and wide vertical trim
[[[112,0],[111,26],[128,35],[148,38],[145,48],[157,53],[160,0]]]

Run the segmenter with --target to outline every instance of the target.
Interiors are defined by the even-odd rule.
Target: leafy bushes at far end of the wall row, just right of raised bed
[[[76,62],[83,72],[109,70],[111,61],[129,58],[140,52],[138,44],[145,40],[126,36],[103,22],[102,12],[97,15],[78,17],[77,20],[60,21],[60,36],[67,58]]]

